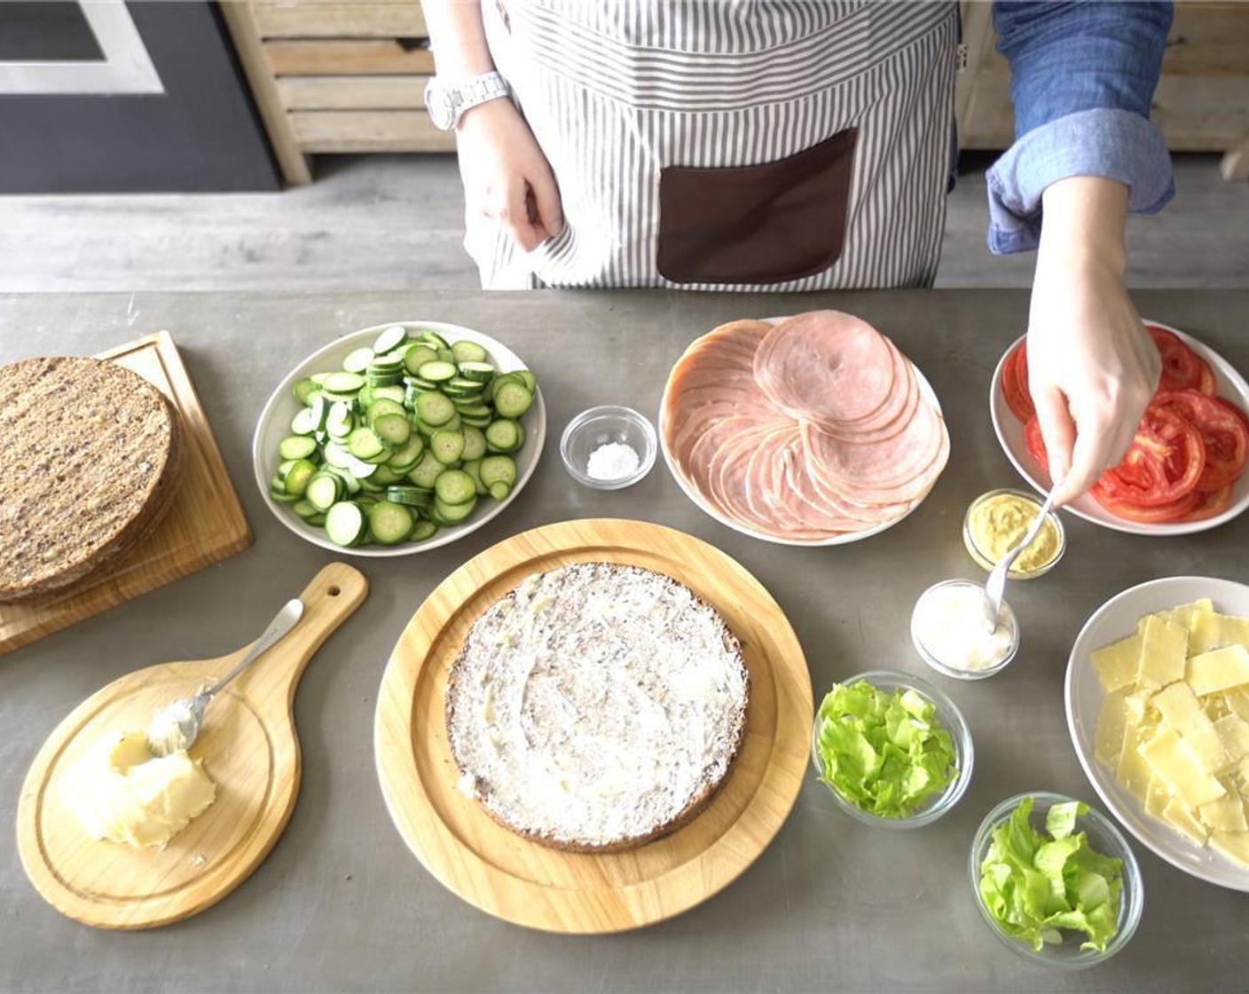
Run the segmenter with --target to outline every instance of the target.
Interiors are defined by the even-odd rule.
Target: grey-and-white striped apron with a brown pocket
[[[482,14],[495,63],[551,163],[565,218],[560,235],[525,253],[496,221],[468,216],[465,246],[485,288],[932,284],[952,151],[954,4],[482,0]],[[839,165],[838,144],[852,146]],[[791,196],[788,216],[816,219],[802,224],[823,225],[827,245],[784,270],[792,278],[743,275],[741,265],[724,278],[699,278],[697,268],[673,278],[663,260],[679,254],[691,224],[664,210],[697,209],[703,189],[707,198],[713,189],[748,198],[768,183],[783,200],[801,184],[767,170],[802,170],[808,150],[832,163],[811,173],[813,196],[841,169],[842,203],[826,213]],[[749,240],[768,210],[748,206],[726,230]],[[681,230],[669,235],[669,220],[667,229]],[[783,250],[787,221],[779,224],[779,238],[771,236]],[[697,255],[691,244],[686,261]]]

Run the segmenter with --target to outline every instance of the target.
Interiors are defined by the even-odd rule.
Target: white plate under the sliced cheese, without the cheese
[[[1238,866],[1213,849],[1185,839],[1163,821],[1147,814],[1124,788],[1093,758],[1097,716],[1102,709],[1102,685],[1093,671],[1090,653],[1124,639],[1137,630],[1142,615],[1210,598],[1222,614],[1249,615],[1249,586],[1207,576],[1165,576],[1133,586],[1110,598],[1080,629],[1067,663],[1067,726],[1080,765],[1093,789],[1114,816],[1144,845],[1173,866],[1233,890],[1249,891],[1249,869]]]

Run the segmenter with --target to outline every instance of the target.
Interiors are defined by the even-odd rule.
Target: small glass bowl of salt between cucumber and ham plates
[[[563,430],[560,455],[568,475],[596,490],[620,490],[654,465],[654,426],[632,408],[605,405],[582,411]]]

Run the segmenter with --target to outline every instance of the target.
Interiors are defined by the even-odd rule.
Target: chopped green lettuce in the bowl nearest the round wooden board
[[[949,731],[914,690],[834,684],[816,721],[821,779],[881,818],[908,818],[958,775]]]

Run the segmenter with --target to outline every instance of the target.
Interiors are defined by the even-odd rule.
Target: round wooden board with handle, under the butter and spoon
[[[84,924],[146,929],[190,918],[241,884],[282,834],[299,794],[295,686],[367,591],[357,570],[326,566],[300,594],[295,628],[209,705],[190,754],[216,783],[216,799],[162,849],[89,838],[59,780],[100,736],[147,728],[155,710],[224,676],[249,646],[136,670],[75,708],[39,750],[17,803],[17,850],[35,889]]]

